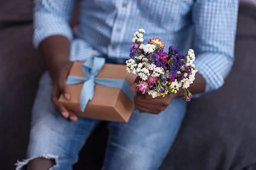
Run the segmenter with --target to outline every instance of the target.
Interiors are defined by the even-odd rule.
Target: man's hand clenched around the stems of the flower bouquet
[[[135,107],[139,109],[140,112],[159,114],[161,111],[166,110],[168,105],[171,102],[171,96],[165,97],[155,97],[152,98],[151,95],[142,94],[137,91],[136,83],[140,80],[140,77],[137,77],[134,84],[131,86],[131,91],[136,92],[134,97]]]

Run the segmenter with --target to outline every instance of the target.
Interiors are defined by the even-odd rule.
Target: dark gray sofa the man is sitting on
[[[20,8],[21,7],[21,8]],[[44,59],[32,47],[32,0],[0,2],[0,166],[26,157],[29,123]],[[76,21],[74,21],[76,23]],[[236,62],[218,91],[193,99],[160,170],[256,170],[256,8],[242,4]],[[108,131],[100,125],[75,170],[99,170]]]

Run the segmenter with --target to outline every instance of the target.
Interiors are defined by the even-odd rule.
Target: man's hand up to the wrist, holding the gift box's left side
[[[70,61],[58,63],[58,67],[56,67],[58,69],[56,69],[53,73],[50,73],[52,75],[53,81],[51,100],[55,107],[60,111],[62,116],[64,116],[64,118],[70,118],[71,121],[76,121],[77,116],[72,111],[68,111],[64,107],[64,105],[58,102],[60,94],[62,94],[65,99],[70,99],[70,92],[68,91],[68,88],[66,86],[66,79],[70,72],[72,64],[73,62]]]

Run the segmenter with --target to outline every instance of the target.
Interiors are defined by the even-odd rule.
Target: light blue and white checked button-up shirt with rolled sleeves
[[[182,54],[195,51],[195,65],[206,81],[205,91],[224,84],[234,62],[239,0],[83,0],[76,38],[69,21],[76,0],[35,0],[33,43],[52,35],[71,42],[70,59],[107,56],[116,63],[129,58],[133,34],[162,39]]]

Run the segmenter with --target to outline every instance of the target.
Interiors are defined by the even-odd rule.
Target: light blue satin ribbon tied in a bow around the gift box
[[[95,83],[110,88],[119,88],[129,97],[129,99],[131,99],[131,101],[134,101],[134,93],[130,91],[131,87],[124,79],[106,79],[96,77],[104,64],[105,58],[92,57],[87,59],[82,65],[82,71],[84,72],[85,77],[67,77],[67,85],[84,82],[80,95],[81,111],[84,111],[89,100],[93,99]]]

